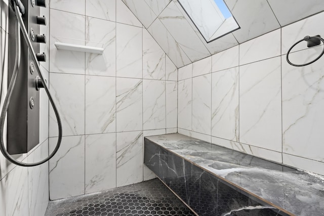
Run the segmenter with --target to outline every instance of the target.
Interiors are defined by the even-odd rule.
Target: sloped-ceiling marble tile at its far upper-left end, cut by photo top
[[[148,28],[157,17],[144,0],[123,0],[123,2],[141,21],[145,28]]]

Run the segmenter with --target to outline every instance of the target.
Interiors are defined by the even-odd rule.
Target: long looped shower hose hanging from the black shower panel
[[[12,74],[12,78],[11,78],[11,81],[10,81],[10,84],[9,84],[9,87],[8,87],[8,92],[7,92],[5,102],[4,102],[4,106],[3,106],[1,116],[0,116],[0,133],[1,133],[0,134],[0,137],[1,137],[0,138],[0,141],[1,141],[0,150],[3,153],[3,155],[7,158],[7,160],[9,160],[10,162],[12,162],[12,163],[14,163],[16,165],[19,165],[19,166],[37,166],[37,165],[41,165],[41,164],[47,162],[48,160],[50,160],[56,154],[56,152],[59,150],[60,145],[61,145],[61,141],[62,141],[62,122],[61,122],[61,118],[60,118],[59,112],[57,110],[57,107],[56,107],[56,105],[55,105],[55,103],[53,101],[53,98],[52,98],[52,96],[50,94],[49,88],[47,87],[46,81],[45,81],[44,76],[42,74],[41,67],[38,64],[35,52],[34,52],[34,50],[32,48],[31,41],[30,41],[30,39],[28,37],[27,30],[25,28],[25,25],[23,23],[23,20],[22,20],[20,11],[19,11],[19,7],[17,6],[15,1],[13,1],[13,4],[14,4],[14,9],[15,9],[14,10],[15,15],[16,15],[16,18],[17,18],[17,22],[16,22],[16,59],[15,59],[14,71],[13,71],[13,74]],[[15,160],[8,153],[8,151],[7,151],[6,147],[5,147],[5,144],[4,144],[4,136],[3,136],[6,114],[7,114],[7,111],[8,111],[10,98],[11,98],[11,95],[12,95],[14,87],[15,87],[15,83],[16,83],[16,79],[17,79],[17,75],[18,75],[19,63],[20,63],[20,30],[22,31],[22,34],[23,34],[23,36],[24,36],[24,38],[26,40],[27,46],[29,48],[29,51],[30,51],[30,54],[31,54],[31,57],[32,57],[32,60],[35,63],[35,67],[36,67],[36,70],[38,72],[38,75],[39,75],[39,77],[41,78],[41,80],[43,82],[44,89],[45,89],[45,91],[46,91],[46,93],[47,93],[47,95],[49,97],[49,100],[51,102],[51,105],[52,105],[52,107],[54,109],[54,113],[55,113],[55,116],[56,116],[56,119],[57,119],[57,124],[58,124],[58,131],[59,131],[58,141],[57,141],[56,147],[55,147],[54,151],[52,152],[52,154],[50,154],[47,158],[45,158],[45,159],[43,159],[43,160],[41,160],[39,162],[35,162],[35,163],[24,163],[24,162]]]

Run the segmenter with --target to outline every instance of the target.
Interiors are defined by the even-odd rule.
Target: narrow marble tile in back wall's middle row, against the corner
[[[166,81],[167,128],[178,126],[178,82]]]

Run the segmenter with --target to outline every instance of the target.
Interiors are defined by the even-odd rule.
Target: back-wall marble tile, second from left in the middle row
[[[116,78],[86,76],[86,134],[116,132]]]

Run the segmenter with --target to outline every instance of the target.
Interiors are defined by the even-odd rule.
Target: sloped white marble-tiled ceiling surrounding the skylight
[[[324,10],[323,0],[225,0],[240,29],[207,43],[177,0],[123,2],[178,68]]]

